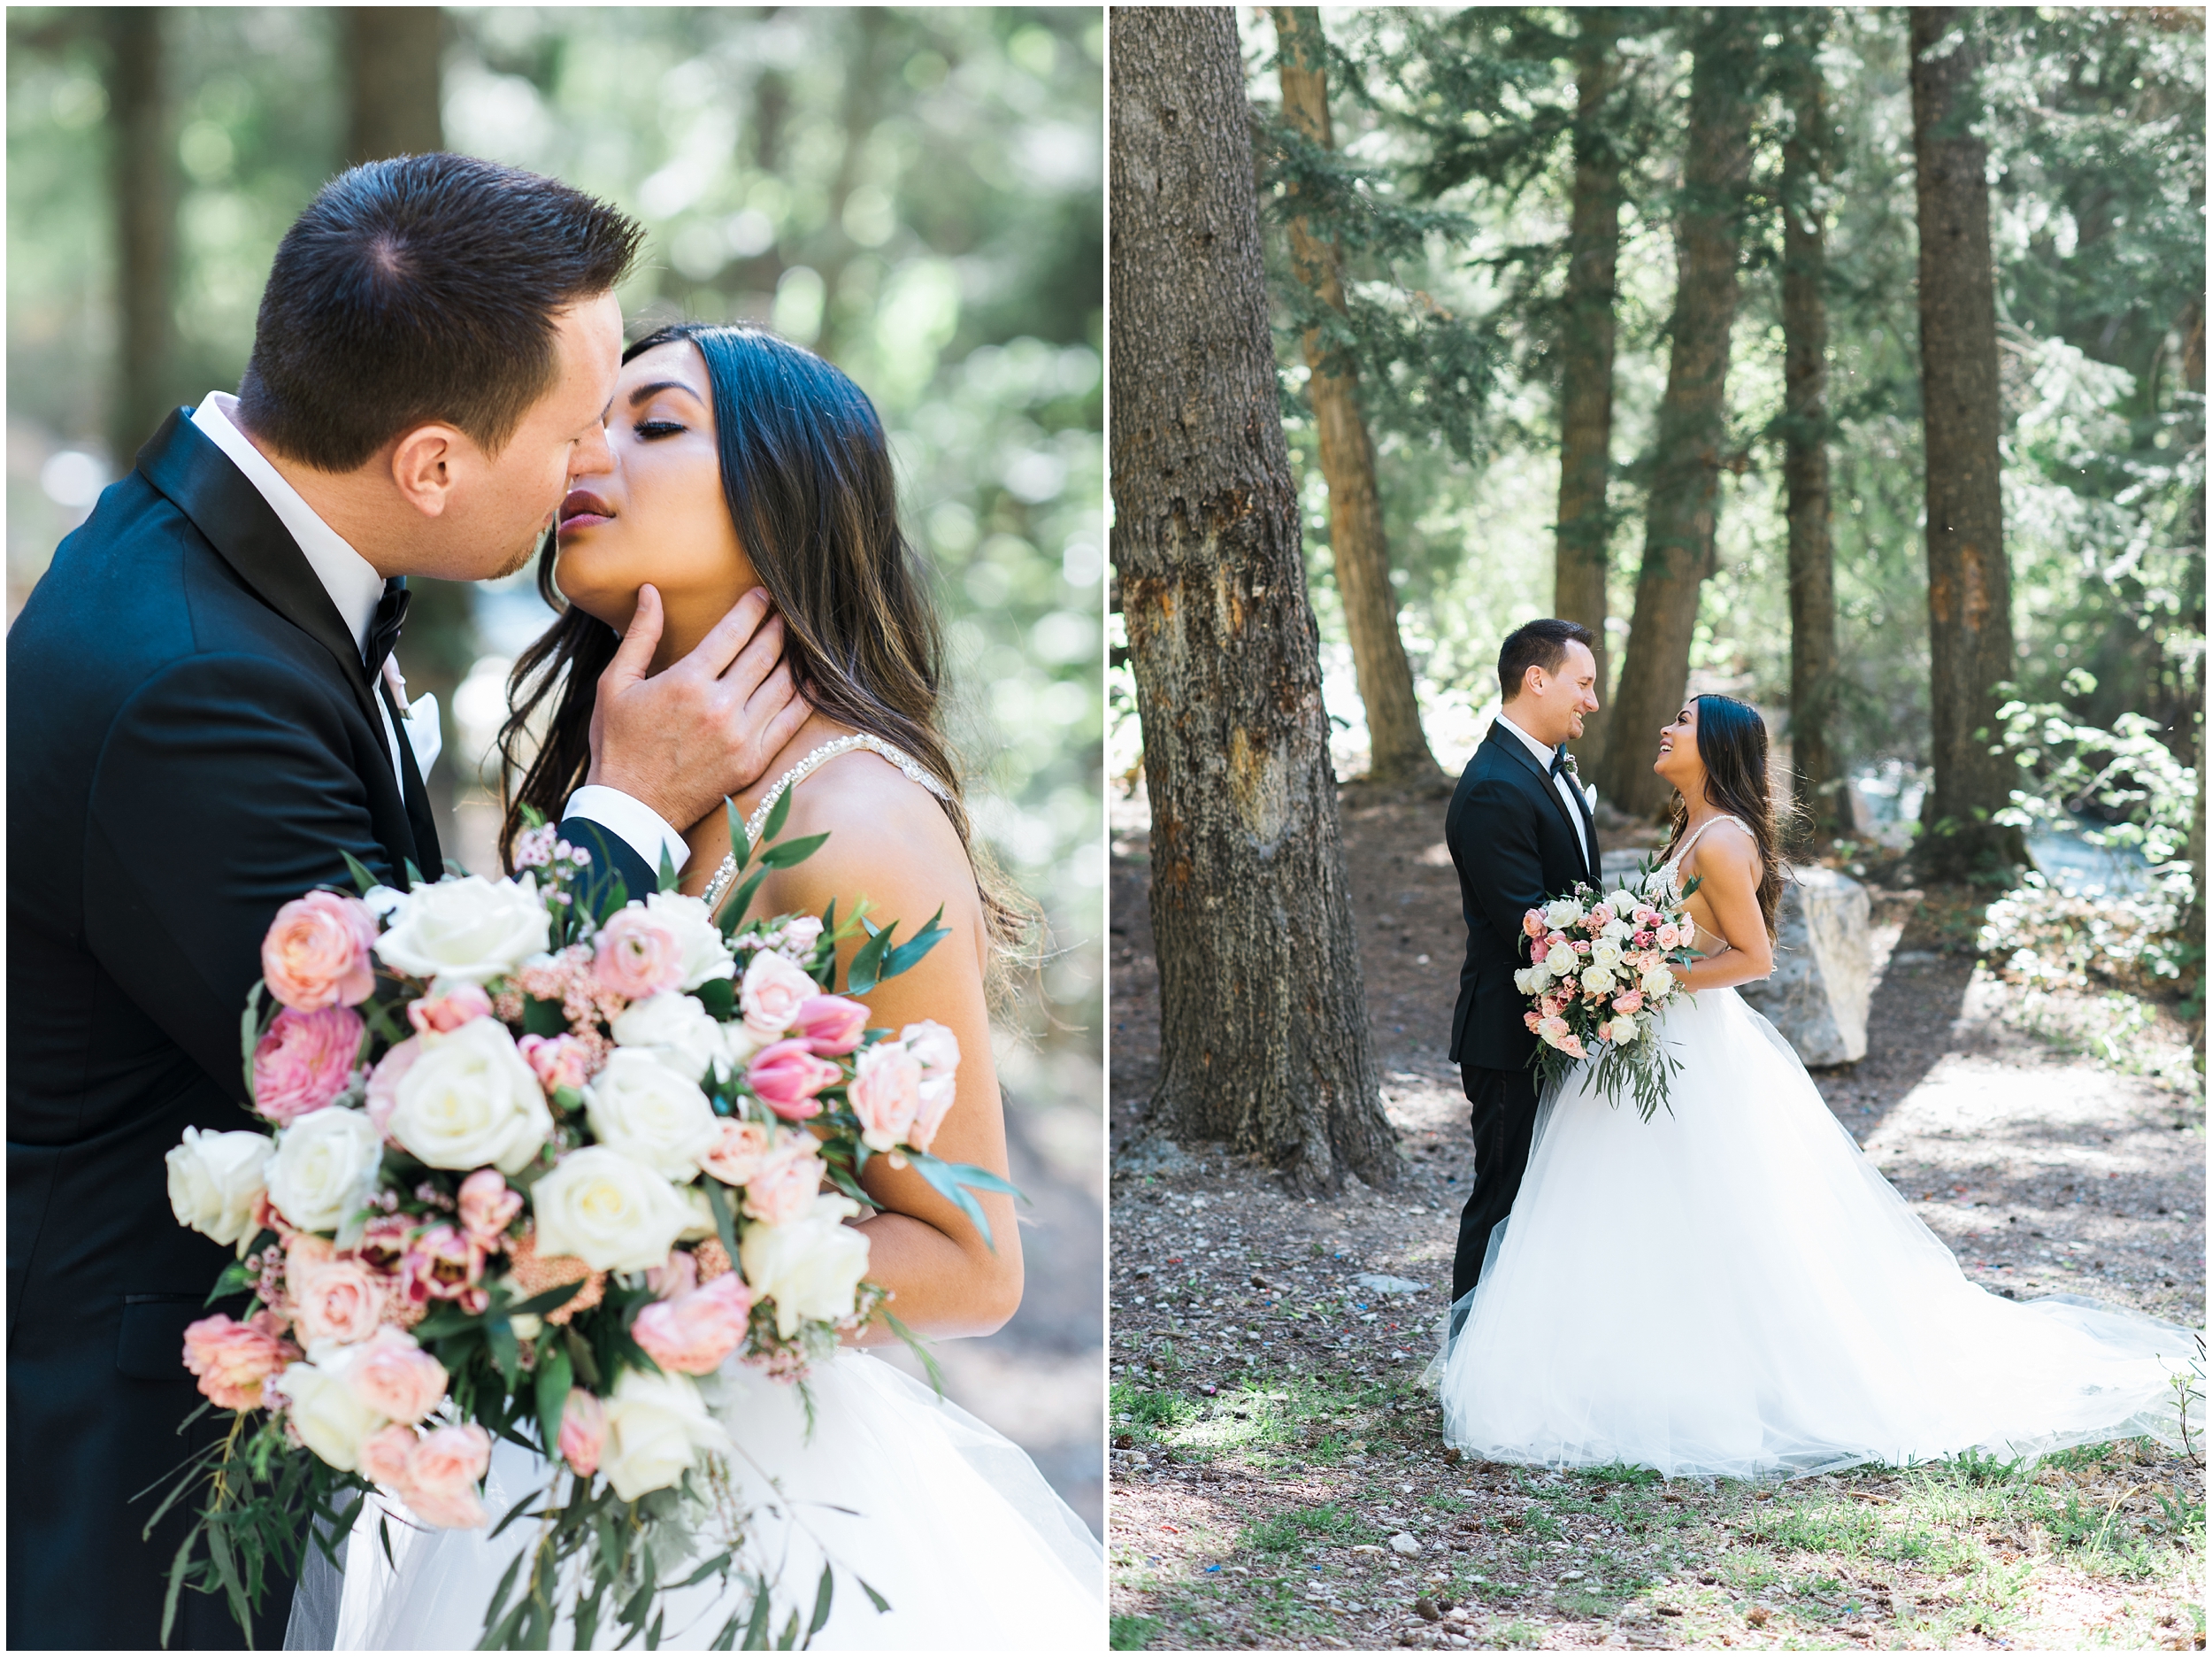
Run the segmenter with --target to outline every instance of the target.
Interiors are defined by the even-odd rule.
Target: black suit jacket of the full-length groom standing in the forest
[[[1467,918],[1467,965],[1451,1013],[1453,1064],[1517,1071],[1535,1051],[1535,1035],[1522,1022],[1528,998],[1513,989],[1513,973],[1528,965],[1522,916],[1577,880],[1599,883],[1597,827],[1588,819],[1584,827],[1588,861],[1575,812],[1551,774],[1526,743],[1493,723],[1444,814],[1444,845],[1460,872]]]

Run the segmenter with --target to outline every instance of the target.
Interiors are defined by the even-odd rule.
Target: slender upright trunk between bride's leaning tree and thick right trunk
[[[1849,827],[1834,750],[1836,555],[1827,502],[1827,232],[1818,186],[1827,119],[1812,53],[1820,13],[1796,27],[1805,73],[1794,86],[1794,131],[1783,146],[1783,487],[1790,493],[1790,757],[1812,830]]]

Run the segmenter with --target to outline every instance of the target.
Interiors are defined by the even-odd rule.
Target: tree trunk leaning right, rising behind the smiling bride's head
[[[1674,230],[1674,323],[1659,451],[1644,520],[1644,566],[1613,692],[1604,794],[1632,816],[1657,816],[1670,790],[1652,774],[1659,730],[1690,679],[1697,600],[1712,573],[1728,431],[1728,332],[1736,321],[1743,186],[1750,175],[1752,49],[1759,24],[1714,11],[1690,71],[1683,208]]]

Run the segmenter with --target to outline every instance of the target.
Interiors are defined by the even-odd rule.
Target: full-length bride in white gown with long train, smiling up
[[[2008,1301],[1882,1179],[1734,984],[1772,971],[1767,737],[1697,697],[1655,770],[1681,790],[1668,878],[1699,880],[1694,1002],[1648,1124],[1577,1069],[1537,1115],[1511,1219],[1431,1365],[1444,1442],[1502,1462],[1794,1478],[1982,1449],[2179,1447],[2190,1330]]]

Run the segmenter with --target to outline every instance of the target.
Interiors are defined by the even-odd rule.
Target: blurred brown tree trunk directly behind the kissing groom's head
[[[442,150],[440,9],[347,7],[338,18],[338,40],[345,51],[347,91],[345,164]],[[407,611],[407,637],[398,648],[398,661],[411,695],[425,690],[438,695],[445,752],[422,779],[422,788],[438,816],[438,836],[451,850],[460,845],[453,803],[478,781],[471,768],[476,754],[460,752],[460,728],[453,723],[453,690],[476,664],[476,588],[467,582],[425,577],[407,586],[414,591],[414,604]]]

